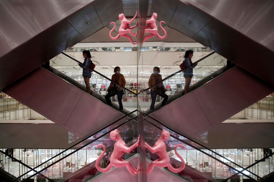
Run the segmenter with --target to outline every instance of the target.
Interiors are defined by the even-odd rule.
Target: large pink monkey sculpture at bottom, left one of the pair
[[[138,165],[137,169],[132,167],[132,165],[129,163],[129,161],[125,161],[121,159],[121,157],[124,155],[124,153],[130,153],[134,148],[139,146],[139,140],[140,136],[138,137],[138,140],[136,143],[134,143],[131,147],[127,147],[126,143],[122,140],[121,136],[119,135],[118,130],[113,130],[110,132],[110,138],[112,140],[115,140],[114,144],[114,150],[110,156],[110,164],[106,168],[100,168],[99,161],[102,159],[103,155],[106,153],[106,147],[102,144],[99,144],[97,148],[103,147],[104,151],[103,153],[98,157],[98,159],[95,162],[95,166],[98,169],[98,171],[102,173],[106,173],[109,170],[111,170],[111,167],[114,166],[116,168],[124,167],[126,166],[127,170],[132,174],[136,175],[140,172],[140,164]]]

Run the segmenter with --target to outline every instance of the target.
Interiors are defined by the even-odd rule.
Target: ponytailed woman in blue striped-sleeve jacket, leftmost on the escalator
[[[90,55],[90,51],[88,50],[84,50],[83,52],[83,57],[85,58],[85,61],[84,61],[84,65],[86,66],[83,66],[82,64],[79,64],[79,66],[81,68],[83,68],[83,74],[82,76],[84,77],[84,81],[85,81],[85,84],[86,84],[86,87],[87,87],[87,93],[90,94],[90,78],[91,78],[91,72],[89,71],[89,67],[91,65],[91,55]]]

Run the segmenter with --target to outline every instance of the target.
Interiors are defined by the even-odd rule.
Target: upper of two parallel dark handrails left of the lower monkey
[[[109,125],[107,125],[105,128],[107,128],[107,127],[109,127],[109,126],[113,125],[114,123],[116,123],[116,122],[118,122],[119,120],[121,120],[121,119],[123,119],[123,118],[125,118],[125,117],[127,117],[127,116],[129,116],[129,115],[131,115],[133,112],[136,112],[136,111],[137,111],[137,109],[136,109],[136,110],[134,110],[134,111],[132,111],[132,112],[129,112],[128,114],[124,115],[123,117],[119,118],[118,120],[116,120],[116,121],[114,121],[114,122],[110,123],[110,124],[109,124]],[[102,130],[103,130],[103,129],[102,129]],[[99,130],[99,131],[101,131],[101,130]],[[76,143],[76,144],[72,145],[71,147],[69,147],[68,149],[66,149],[66,150],[62,151],[61,153],[59,153],[59,154],[57,154],[57,155],[54,155],[54,157],[52,157],[52,158],[48,159],[47,161],[45,161],[45,162],[43,162],[43,163],[39,164],[39,165],[38,165],[38,166],[36,166],[35,168],[31,168],[31,170],[30,170],[30,171],[35,171],[34,169],[36,169],[36,168],[38,168],[38,167],[42,166],[43,164],[47,163],[48,161],[51,161],[53,158],[56,158],[58,155],[61,155],[62,153],[64,153],[64,152],[66,152],[67,150],[69,150],[69,149],[71,149],[71,148],[75,147],[75,146],[76,146],[76,145],[78,145],[79,143],[81,143],[81,142],[83,142],[83,141],[87,140],[88,138],[90,138],[91,136],[95,135],[95,134],[96,134],[96,133],[98,133],[99,131],[97,131],[97,132],[95,132],[95,133],[93,133],[93,134],[89,135],[88,137],[86,137],[86,138],[84,138],[83,140],[81,140],[80,142],[78,142],[78,143]],[[21,178],[22,176],[26,175],[26,174],[27,174],[27,173],[29,173],[30,171],[27,171],[26,173],[22,174],[21,176],[17,177],[16,179],[14,179],[14,180],[12,180],[12,181],[15,181],[15,180],[17,180],[17,179]]]

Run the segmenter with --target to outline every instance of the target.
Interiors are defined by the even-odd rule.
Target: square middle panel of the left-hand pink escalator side
[[[65,124],[82,91],[45,71],[29,104],[50,117],[57,124]]]

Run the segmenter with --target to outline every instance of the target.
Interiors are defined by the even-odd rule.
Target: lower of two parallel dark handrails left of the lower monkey
[[[129,121],[131,121],[131,120],[134,120],[135,118],[137,118],[137,116],[134,116],[133,118],[130,118],[129,120],[125,121],[124,123],[121,123],[120,125],[117,125],[117,126],[116,126],[116,127],[114,127],[113,129],[111,129],[111,130],[109,130],[108,132],[106,132],[105,134],[98,136],[98,137],[97,137],[97,138],[95,138],[94,140],[91,140],[90,142],[86,143],[86,144],[85,144],[85,145],[83,145],[82,147],[80,147],[80,148],[78,148],[78,149],[74,150],[73,152],[69,153],[68,155],[66,155],[66,156],[64,156],[64,157],[62,157],[62,158],[60,158],[60,159],[58,159],[57,161],[55,161],[55,162],[51,163],[51,164],[50,164],[50,165],[48,165],[46,168],[41,169],[40,171],[38,171],[38,172],[34,173],[33,175],[31,175],[31,176],[29,176],[29,177],[25,178],[25,179],[24,179],[23,181],[21,181],[21,182],[24,182],[24,181],[26,181],[26,180],[28,180],[28,179],[32,178],[33,176],[37,175],[38,173],[40,173],[40,172],[44,171],[45,169],[47,169],[47,168],[49,168],[49,167],[53,166],[54,164],[58,163],[59,161],[61,161],[61,160],[65,159],[65,158],[67,158],[69,155],[74,154],[75,152],[77,152],[77,151],[81,150],[82,148],[86,147],[86,146],[87,146],[87,145],[89,145],[90,143],[95,142],[95,141],[96,141],[96,140],[98,140],[99,138],[102,138],[103,136],[107,135],[107,134],[108,134],[108,133],[110,133],[111,131],[113,131],[113,130],[115,130],[115,129],[119,128],[119,127],[121,127],[122,125],[124,125],[124,124],[128,123],[128,122],[129,122]]]

